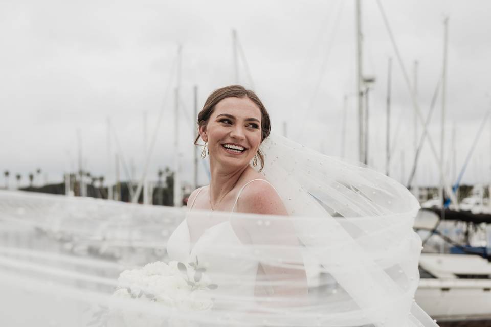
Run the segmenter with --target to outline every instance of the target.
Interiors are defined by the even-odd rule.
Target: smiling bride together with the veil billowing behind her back
[[[404,186],[270,135],[240,85],[212,92],[197,123],[211,181],[167,252],[218,285],[215,324],[436,325],[413,301],[419,204]]]

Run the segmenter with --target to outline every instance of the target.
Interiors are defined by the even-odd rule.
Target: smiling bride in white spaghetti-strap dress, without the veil
[[[240,297],[235,301],[237,306],[240,301],[253,296],[273,294],[274,297],[296,297],[298,303],[307,294],[307,279],[291,223],[276,221],[275,226],[268,229],[275,228],[281,235],[280,240],[278,234],[272,235],[258,228],[257,222],[260,220],[251,223],[243,218],[228,219],[228,216],[216,215],[214,219],[204,219],[199,213],[192,214],[195,211],[221,211],[288,215],[274,186],[260,173],[264,165],[260,146],[271,130],[264,105],[253,91],[242,86],[220,88],[208,97],[198,115],[198,126],[196,142],[199,138],[204,141],[202,157],[209,157],[211,181],[190,195],[187,204],[189,213],[167,244],[170,259],[186,262],[193,261],[197,256],[206,266],[208,274],[220,275],[221,284],[227,284],[224,278],[233,281],[240,277],[241,286],[230,283],[228,287],[221,285],[217,289],[220,297],[226,298],[228,308],[231,307],[232,293]],[[226,221],[221,221],[224,219]],[[226,254],[223,249],[215,248],[217,243],[229,250],[233,248],[234,258],[225,259],[225,255],[221,255]],[[290,266],[279,266],[248,259],[246,253],[252,245],[264,244],[281,244],[296,249],[296,253],[289,254],[290,259],[295,260],[289,262]],[[264,251],[262,254],[265,254]],[[225,267],[229,267],[228,271]],[[269,283],[269,287],[266,287],[265,281],[275,279],[283,282]],[[220,302],[219,299],[217,302]],[[224,305],[217,302],[215,308]]]

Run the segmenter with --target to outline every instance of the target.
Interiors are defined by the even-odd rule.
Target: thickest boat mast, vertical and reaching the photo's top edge
[[[362,90],[362,13],[361,2],[356,0],[356,91],[358,92],[358,159],[362,161],[365,158],[365,149],[363,143],[363,90]],[[365,162],[366,164],[366,162]]]

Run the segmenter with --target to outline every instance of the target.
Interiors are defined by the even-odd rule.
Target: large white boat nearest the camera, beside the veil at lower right
[[[455,225],[455,220],[446,223],[447,226]],[[441,223],[437,214],[421,211],[414,227],[425,240],[428,238],[428,231],[438,230],[438,225]],[[426,235],[421,231],[426,231]],[[448,241],[455,235],[448,233],[443,237]],[[491,233],[489,236],[491,237]],[[433,239],[438,239],[438,237],[435,236]],[[466,247],[464,245],[461,248],[462,251],[470,253],[473,249],[483,250],[482,253],[476,252],[480,255],[427,253],[424,250],[421,253],[420,282],[415,300],[432,318],[437,319],[440,323],[446,322],[444,325],[469,320],[491,325],[491,262],[489,261],[491,258],[483,257],[489,252],[482,246],[482,240],[479,238],[467,238],[466,240],[469,239],[473,240],[471,243],[477,243],[479,246]],[[428,251],[435,251],[435,248],[438,248],[438,246],[435,247],[435,242],[430,242],[425,246],[425,250]],[[448,244],[441,248],[445,252],[456,250],[455,247],[450,248]]]

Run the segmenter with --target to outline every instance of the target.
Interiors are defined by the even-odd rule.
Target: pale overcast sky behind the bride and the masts
[[[414,110],[377,3],[362,3],[364,74],[376,78],[370,91],[369,164],[385,171],[387,62],[393,57],[390,171],[406,181],[414,156]],[[458,173],[490,107],[491,2],[382,0],[382,4],[411,80],[413,63],[419,62],[417,94],[425,115],[442,72],[443,19],[449,17],[445,162],[450,163],[452,177],[453,126]],[[0,169],[27,175],[39,167],[49,181],[61,181],[64,171],[78,170],[79,130],[83,165],[95,175],[106,174],[109,118],[120,155],[140,175],[144,115],[150,139],[162,108],[150,176],[156,177],[159,167],[172,166],[177,83],[172,72],[181,44],[184,105],[179,142],[184,178],[190,180],[193,86],[198,86],[202,107],[213,89],[236,82],[232,29],[237,30],[246,59],[239,61],[239,83],[257,91],[270,111],[273,131],[283,133],[286,122],[288,137],[340,156],[343,97],[355,91],[354,1],[4,0]],[[438,151],[440,108],[438,98],[429,126]],[[357,159],[354,97],[348,97],[346,110],[345,155]],[[115,139],[112,147],[117,150]],[[487,122],[464,181],[489,182],[490,149]],[[428,144],[418,169],[419,183],[438,180]],[[207,182],[203,166],[200,182]]]

